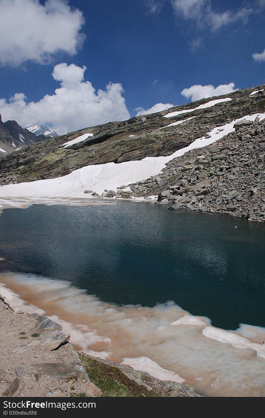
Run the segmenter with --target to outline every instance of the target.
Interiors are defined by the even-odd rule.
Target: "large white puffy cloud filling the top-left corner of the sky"
[[[0,0],[0,64],[31,60],[47,64],[63,51],[76,54],[84,35],[83,14],[65,0]]]

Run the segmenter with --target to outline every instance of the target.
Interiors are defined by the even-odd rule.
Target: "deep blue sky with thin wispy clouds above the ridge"
[[[20,2],[0,0],[0,26],[1,19],[10,18],[10,27],[19,25],[20,21],[20,33],[24,33],[28,29],[23,25],[25,19],[21,16]],[[40,12],[46,3],[38,0],[23,2],[24,5],[38,3]],[[55,89],[60,87],[60,80],[52,76],[54,66],[60,63],[86,66],[84,79],[91,82],[96,91],[105,90],[109,82],[120,83],[124,92],[119,94],[124,97],[131,116],[136,114],[134,109],[138,107],[149,109],[156,103],[177,105],[191,101],[181,92],[194,84],[217,87],[234,83],[235,88],[247,88],[265,83],[265,56],[261,54],[265,48],[263,0],[49,0],[48,3],[50,12],[46,3],[46,15],[54,13],[62,3],[61,16],[66,21],[62,26],[61,23],[49,26],[43,21],[43,28],[48,26],[47,31],[53,34],[54,39],[57,32],[64,31],[67,45],[59,39],[56,45],[63,51],[58,51],[56,45],[52,51],[52,41],[49,39],[48,52],[44,50],[42,56],[38,55],[38,51],[33,51],[36,46],[28,51],[24,44],[15,44],[15,41],[10,41],[9,51],[2,51],[2,55],[0,47],[0,56],[7,57],[2,58],[0,66],[0,112],[3,120],[13,118],[21,124],[26,121],[46,122],[59,130],[71,129],[71,124],[68,126],[64,121],[60,124],[60,120],[50,120],[52,118],[48,116],[47,119],[43,115],[39,117],[38,112],[33,110],[28,110],[29,114],[26,115],[24,109],[24,115],[20,117],[18,106],[12,107],[8,102],[15,93],[25,94],[26,103],[38,102],[46,94],[52,96]],[[1,13],[1,7],[5,7],[4,13]],[[76,25],[71,27],[73,8],[80,12]],[[17,10],[18,20],[15,18],[12,22]],[[34,10],[30,10],[28,13],[33,13]],[[35,19],[35,15],[32,19]],[[40,23],[32,28],[37,40],[38,36],[40,39],[46,36],[45,29],[39,33],[41,19],[40,16]],[[72,38],[80,37],[80,33],[84,35],[71,50],[68,47],[71,43],[68,27],[71,27]],[[29,36],[32,37],[32,33]],[[1,39],[5,37],[12,37],[12,33],[5,31]],[[19,54],[19,62],[13,58],[18,55],[18,48],[23,49]],[[256,59],[252,57],[255,53],[260,54]],[[200,95],[203,94],[204,90]],[[119,117],[114,111],[107,114],[109,118]],[[124,115],[126,112],[123,109],[120,118]],[[32,117],[37,117],[38,121],[31,120]],[[68,117],[71,117],[70,113]],[[100,122],[95,118],[90,119],[89,115],[87,119],[91,123]],[[102,117],[102,121],[108,120]],[[84,118],[80,123],[85,125],[79,128],[90,125]]]

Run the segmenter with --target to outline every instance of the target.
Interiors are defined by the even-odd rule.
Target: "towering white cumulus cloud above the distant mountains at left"
[[[105,90],[96,90],[84,81],[83,68],[75,64],[58,64],[53,78],[61,87],[53,95],[46,94],[39,102],[27,102],[24,93],[15,93],[8,101],[0,99],[3,120],[14,119],[19,125],[47,125],[59,135],[113,120],[129,119],[119,83],[109,83]]]

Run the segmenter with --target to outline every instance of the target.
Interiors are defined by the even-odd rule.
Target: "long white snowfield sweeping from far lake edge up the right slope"
[[[9,184],[0,187],[0,197],[72,197],[91,198],[91,194],[84,194],[85,190],[92,190],[101,195],[104,189],[116,190],[121,184],[131,184],[158,174],[165,164],[179,157],[189,150],[203,148],[223,138],[235,130],[234,124],[240,120],[265,119],[265,113],[255,113],[233,120],[226,125],[215,127],[208,133],[209,138],[196,139],[193,143],[166,157],[146,157],[139,161],[124,163],[106,163],[85,166],[72,171],[67,176],[37,180],[30,183]],[[139,198],[140,200],[142,198]],[[0,203],[2,203],[0,201]]]

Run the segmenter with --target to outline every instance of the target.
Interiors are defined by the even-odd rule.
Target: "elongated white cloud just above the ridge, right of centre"
[[[207,86],[194,84],[189,89],[182,90],[181,94],[187,97],[187,99],[191,97],[192,102],[195,102],[196,100],[204,99],[204,97],[221,96],[222,94],[235,92],[238,89],[234,89],[234,87],[234,83],[220,84],[217,87],[212,86],[212,84],[208,84]]]

